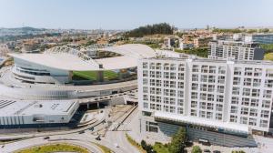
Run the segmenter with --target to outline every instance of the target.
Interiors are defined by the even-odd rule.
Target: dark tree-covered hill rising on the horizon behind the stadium
[[[172,35],[174,27],[168,25],[167,23],[140,26],[134,30],[126,32],[127,37],[142,37],[147,35]]]

